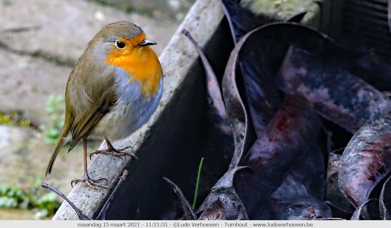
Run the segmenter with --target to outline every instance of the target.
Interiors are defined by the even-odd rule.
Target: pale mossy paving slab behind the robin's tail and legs
[[[18,185],[43,178],[53,147],[44,144],[42,137],[42,133],[32,128],[0,125],[0,183]],[[94,141],[87,145],[88,152],[92,152],[99,144]],[[69,153],[66,147],[61,150],[52,174],[44,181],[67,194],[71,190],[70,181],[81,173],[83,148],[78,144]]]

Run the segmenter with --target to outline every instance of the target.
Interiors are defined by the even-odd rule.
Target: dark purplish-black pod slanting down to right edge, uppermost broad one
[[[323,117],[350,133],[391,110],[390,99],[367,82],[296,47],[289,49],[277,81],[282,91],[303,94]]]

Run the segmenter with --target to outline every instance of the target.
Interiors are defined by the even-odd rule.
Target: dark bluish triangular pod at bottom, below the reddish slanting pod
[[[323,152],[314,142],[254,219],[311,220],[307,211],[309,207],[314,209],[318,218],[331,217],[331,210],[324,201],[325,172]],[[269,211],[264,213],[266,210]],[[271,216],[265,217],[265,214]]]

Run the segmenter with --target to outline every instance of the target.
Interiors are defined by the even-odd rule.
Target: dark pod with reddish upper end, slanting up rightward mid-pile
[[[249,215],[277,189],[315,140],[321,120],[301,95],[289,95],[240,164],[255,174],[241,174],[235,186]]]

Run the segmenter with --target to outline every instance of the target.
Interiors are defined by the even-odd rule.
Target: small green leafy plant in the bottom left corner
[[[38,178],[33,183],[19,185],[5,185],[0,183],[0,208],[33,209],[40,218],[54,214],[60,207],[56,200],[56,193],[49,192],[40,196],[42,179]]]

